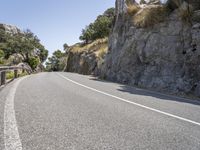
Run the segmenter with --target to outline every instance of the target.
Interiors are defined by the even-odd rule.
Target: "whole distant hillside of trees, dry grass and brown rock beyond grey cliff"
[[[107,9],[97,16],[96,20],[84,29],[79,37],[81,42],[68,46],[64,44],[64,52],[56,50],[48,58],[48,71],[70,71],[81,74],[100,74],[108,51],[108,36],[114,23],[114,8]]]

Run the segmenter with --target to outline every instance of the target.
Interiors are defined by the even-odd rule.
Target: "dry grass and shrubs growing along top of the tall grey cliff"
[[[192,6],[184,0],[168,0],[165,3],[160,0],[141,0],[139,5],[131,0],[126,0],[127,13],[133,18],[133,24],[137,27],[150,27],[163,22],[175,9],[178,10],[182,21],[190,22],[193,13]]]

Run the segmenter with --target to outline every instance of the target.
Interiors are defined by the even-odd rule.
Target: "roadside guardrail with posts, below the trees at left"
[[[17,66],[0,66],[0,86],[6,84],[6,73],[9,71],[14,71],[14,78],[19,77],[18,71],[22,70],[22,72],[26,71],[28,74],[32,73],[31,68],[27,67],[25,64],[19,64]]]

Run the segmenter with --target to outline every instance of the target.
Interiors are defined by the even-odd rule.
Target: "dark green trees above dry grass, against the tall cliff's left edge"
[[[90,41],[94,41],[99,38],[108,37],[113,22],[114,8],[109,8],[103,13],[103,15],[98,16],[93,23],[90,23],[85,29],[82,30],[82,34],[79,39],[85,43],[89,43]]]

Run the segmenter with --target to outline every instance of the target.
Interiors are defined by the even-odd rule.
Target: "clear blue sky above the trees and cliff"
[[[82,28],[115,0],[1,0],[0,23],[30,29],[52,53],[79,41]]]

